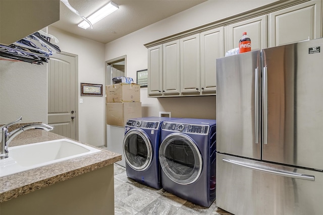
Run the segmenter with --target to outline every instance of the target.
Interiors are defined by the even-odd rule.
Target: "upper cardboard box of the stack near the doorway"
[[[120,83],[105,86],[105,102],[140,102],[140,85]]]

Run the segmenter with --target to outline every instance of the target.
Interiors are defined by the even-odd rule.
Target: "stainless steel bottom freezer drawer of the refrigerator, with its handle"
[[[234,214],[321,214],[323,172],[217,153],[217,206]]]

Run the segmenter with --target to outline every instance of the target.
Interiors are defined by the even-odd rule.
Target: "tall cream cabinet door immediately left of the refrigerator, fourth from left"
[[[217,58],[224,56],[223,29],[221,27],[200,34],[202,93],[217,90]]]

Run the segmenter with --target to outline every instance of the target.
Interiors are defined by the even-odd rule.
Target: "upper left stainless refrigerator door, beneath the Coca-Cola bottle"
[[[259,51],[217,59],[217,151],[260,159],[259,74]]]

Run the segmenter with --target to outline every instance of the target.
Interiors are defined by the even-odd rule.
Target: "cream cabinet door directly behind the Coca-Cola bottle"
[[[239,47],[239,40],[243,32],[251,39],[251,50],[260,50],[267,47],[267,16],[263,15],[252,19],[237,22],[225,27],[226,49],[229,51]]]

